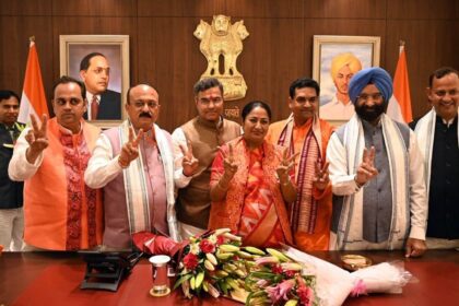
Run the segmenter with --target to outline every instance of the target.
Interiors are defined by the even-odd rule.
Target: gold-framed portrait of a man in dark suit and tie
[[[86,86],[85,119],[109,128],[127,118],[129,35],[60,35],[59,55],[60,74]]]

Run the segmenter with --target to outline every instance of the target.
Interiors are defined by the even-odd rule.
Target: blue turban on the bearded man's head
[[[355,104],[357,96],[368,84],[375,84],[386,103],[392,96],[393,85],[389,73],[379,67],[366,68],[355,73],[349,83],[349,97],[352,103]]]

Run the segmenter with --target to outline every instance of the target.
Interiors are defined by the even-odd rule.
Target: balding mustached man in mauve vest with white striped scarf
[[[143,231],[178,240],[174,180],[189,180],[197,161],[187,155],[175,170],[170,134],[154,123],[160,104],[153,87],[129,89],[125,108],[129,119],[101,134],[84,175],[89,186],[104,188],[104,248],[130,249],[131,235]]]

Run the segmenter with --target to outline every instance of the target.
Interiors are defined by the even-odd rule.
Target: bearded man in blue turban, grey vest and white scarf
[[[424,165],[414,133],[385,113],[392,80],[380,68],[364,69],[349,85],[351,120],[332,134],[333,212],[330,249],[425,249],[427,199]]]

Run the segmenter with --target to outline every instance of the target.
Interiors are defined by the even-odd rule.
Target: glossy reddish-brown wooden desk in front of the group
[[[344,254],[344,252],[342,252]],[[344,305],[459,305],[459,251],[429,250],[419,259],[404,259],[400,251],[360,251],[374,263],[403,260],[419,283],[402,294],[348,298]],[[314,252],[339,262],[340,252]],[[0,256],[0,305],[240,305],[226,298],[188,301],[176,291],[167,297],[151,297],[151,268],[142,259],[116,293],[82,291],[85,263],[72,252],[3,252]]]

